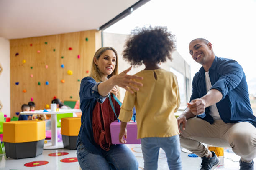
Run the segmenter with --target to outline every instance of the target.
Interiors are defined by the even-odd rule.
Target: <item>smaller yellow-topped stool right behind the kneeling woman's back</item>
[[[64,148],[76,149],[77,137],[81,126],[81,117],[67,117],[61,119],[61,135]]]

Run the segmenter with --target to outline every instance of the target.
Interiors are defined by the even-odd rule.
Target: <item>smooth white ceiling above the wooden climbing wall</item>
[[[138,0],[0,0],[0,37],[93,30]]]

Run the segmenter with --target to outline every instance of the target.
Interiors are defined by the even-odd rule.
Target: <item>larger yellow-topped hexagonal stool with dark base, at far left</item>
[[[3,123],[6,157],[20,159],[43,153],[45,121],[11,121]]]

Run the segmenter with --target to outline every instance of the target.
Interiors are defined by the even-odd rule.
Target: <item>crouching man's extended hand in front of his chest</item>
[[[194,115],[200,115],[205,112],[206,103],[202,98],[191,100],[190,103],[187,103],[187,107],[189,107],[190,111]]]

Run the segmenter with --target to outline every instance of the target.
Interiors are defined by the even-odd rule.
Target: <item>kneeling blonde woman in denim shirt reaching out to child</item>
[[[112,47],[96,51],[91,74],[84,77],[80,87],[81,128],[77,138],[77,159],[83,170],[137,170],[138,161],[125,145],[111,145],[106,151],[93,138],[92,112],[97,102],[104,102],[110,93],[118,95],[116,86],[129,92],[138,90],[141,83],[131,79],[143,79],[127,75],[131,67],[118,74],[118,55]],[[135,87],[136,86],[136,87]]]

